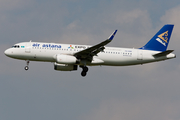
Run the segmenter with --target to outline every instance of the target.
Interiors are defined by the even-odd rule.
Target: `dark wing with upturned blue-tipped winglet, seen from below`
[[[92,47],[89,47],[85,50],[82,50],[82,51],[79,51],[77,53],[74,54],[74,56],[76,56],[77,59],[80,59],[80,60],[88,60],[88,61],[91,61],[92,60],[92,57],[94,55],[97,55],[99,52],[103,51],[105,49],[105,45],[107,45],[108,43],[110,43],[115,34],[116,34],[117,30],[115,30],[112,35],[109,36],[109,38],[97,45],[94,45]]]

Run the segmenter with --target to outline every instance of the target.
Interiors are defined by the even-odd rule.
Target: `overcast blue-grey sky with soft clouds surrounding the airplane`
[[[0,0],[0,120],[180,120],[179,0]],[[139,48],[174,24],[177,58],[129,67],[53,70],[8,58],[24,41]]]

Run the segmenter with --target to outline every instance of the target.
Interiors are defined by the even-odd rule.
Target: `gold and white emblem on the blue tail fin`
[[[166,43],[168,43],[168,31],[158,35],[158,37],[160,38],[156,38],[156,40],[158,42],[160,42],[161,44],[163,44],[164,46],[166,46]],[[164,41],[164,42],[163,42]],[[166,43],[165,43],[166,42]]]

